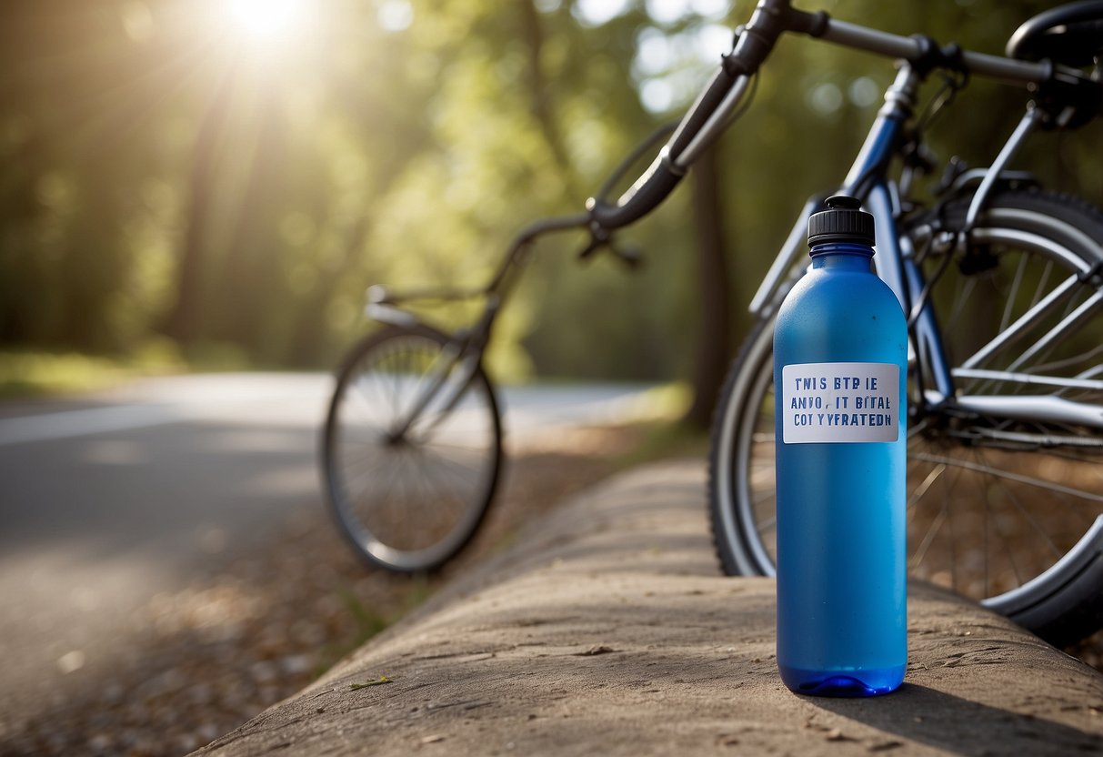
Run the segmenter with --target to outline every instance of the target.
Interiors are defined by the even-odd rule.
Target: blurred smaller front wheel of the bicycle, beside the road
[[[364,559],[395,572],[430,571],[462,550],[497,486],[493,388],[481,366],[451,359],[448,341],[421,326],[368,337],[342,366],[325,420],[330,508]]]

